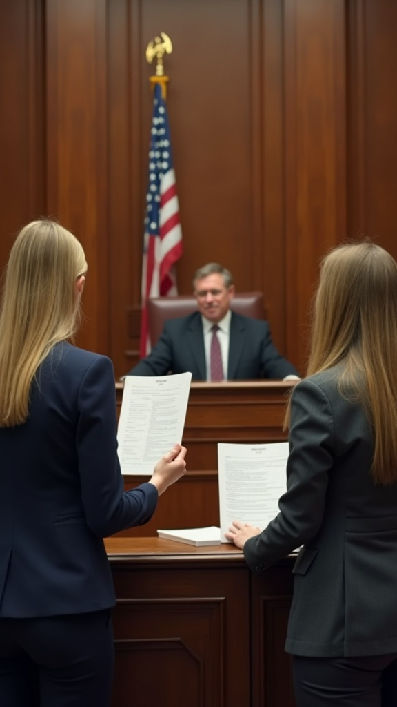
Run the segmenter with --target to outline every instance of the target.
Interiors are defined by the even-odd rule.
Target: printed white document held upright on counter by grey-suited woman
[[[278,514],[278,499],[287,490],[288,442],[218,444],[220,537],[233,520],[263,530]]]

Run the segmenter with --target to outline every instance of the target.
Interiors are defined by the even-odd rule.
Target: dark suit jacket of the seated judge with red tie
[[[165,322],[158,343],[129,375],[166,375],[190,371],[193,380],[206,380],[206,354],[199,312]],[[232,312],[230,320],[229,380],[285,378],[299,375],[271,340],[268,322]]]

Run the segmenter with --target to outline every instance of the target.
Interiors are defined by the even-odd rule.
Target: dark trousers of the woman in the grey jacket
[[[397,707],[397,653],[292,657],[296,707]]]

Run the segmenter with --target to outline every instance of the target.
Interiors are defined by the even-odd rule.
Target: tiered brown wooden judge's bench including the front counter
[[[294,707],[284,652],[293,558],[254,575],[230,544],[156,537],[158,527],[220,525],[218,442],[285,440],[290,387],[191,384],[186,475],[147,525],[105,541],[117,594],[112,707]],[[125,477],[126,489],[147,480]]]

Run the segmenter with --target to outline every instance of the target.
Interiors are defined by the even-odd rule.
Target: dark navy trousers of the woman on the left
[[[113,671],[110,609],[0,619],[1,707],[109,707]]]

